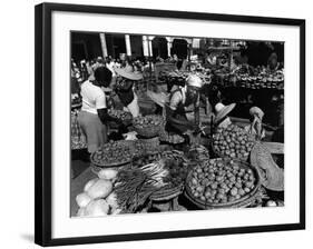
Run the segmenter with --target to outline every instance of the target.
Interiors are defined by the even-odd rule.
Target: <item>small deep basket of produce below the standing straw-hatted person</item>
[[[164,119],[157,114],[137,117],[133,120],[133,126],[138,135],[153,138],[158,136],[160,128],[164,126]]]

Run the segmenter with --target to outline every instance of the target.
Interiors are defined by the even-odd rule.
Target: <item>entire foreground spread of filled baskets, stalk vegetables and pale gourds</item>
[[[111,141],[94,152],[72,181],[71,215],[283,205],[283,166],[271,155],[283,153],[282,143],[257,141],[231,124],[203,135],[209,146],[177,150],[160,142],[163,126],[162,116],[137,118],[130,127],[140,139]]]

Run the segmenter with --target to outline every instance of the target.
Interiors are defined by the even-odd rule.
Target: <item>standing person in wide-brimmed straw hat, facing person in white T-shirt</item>
[[[121,101],[124,109],[129,111],[134,118],[139,116],[138,97],[134,92],[134,82],[141,80],[143,74],[134,71],[133,68],[115,69],[117,78],[115,91]]]

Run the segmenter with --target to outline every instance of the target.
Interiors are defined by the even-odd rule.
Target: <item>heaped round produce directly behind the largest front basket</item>
[[[243,128],[229,124],[226,128],[216,129],[213,135],[212,148],[219,157],[247,160],[254,143],[254,138]]]

